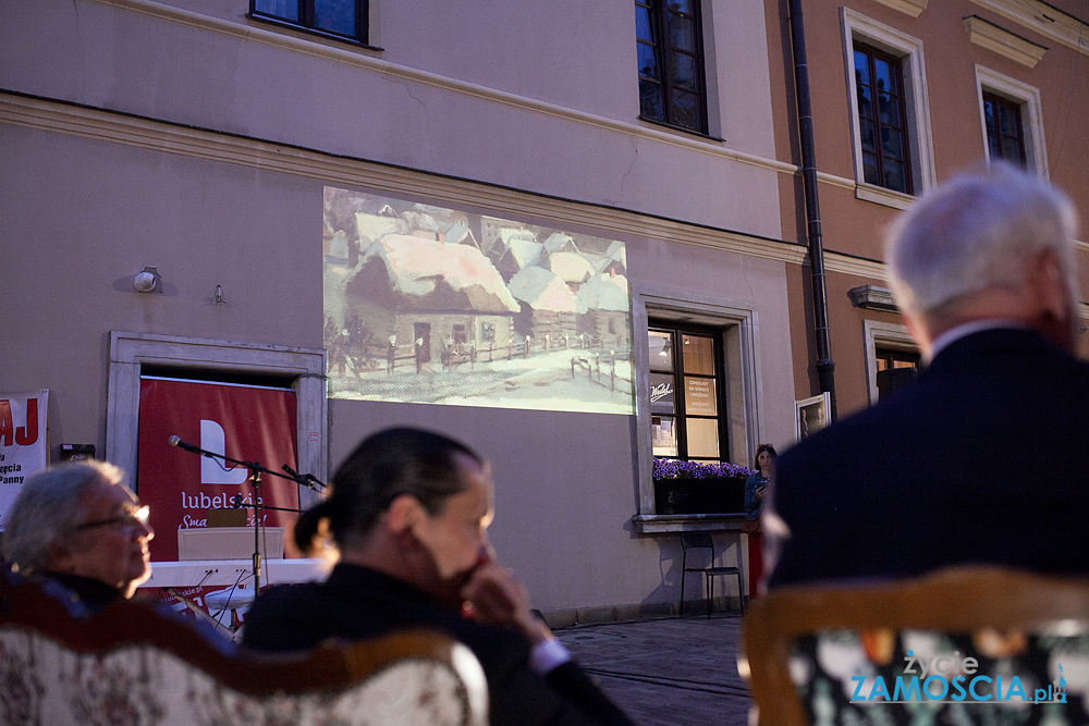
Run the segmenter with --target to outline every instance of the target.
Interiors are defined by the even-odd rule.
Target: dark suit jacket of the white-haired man
[[[1089,573],[1089,365],[1026,330],[941,350],[776,463],[770,587],[991,563]]]

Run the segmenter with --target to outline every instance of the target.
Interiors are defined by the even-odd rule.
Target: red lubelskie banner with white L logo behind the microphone
[[[171,446],[171,436],[270,471],[295,468],[294,391],[142,377],[136,480],[155,528],[152,562],[178,561],[178,530],[206,527],[209,509],[234,508],[236,502],[248,527],[256,500],[262,526],[291,531],[298,509],[295,482],[265,475],[255,497],[247,468]]]

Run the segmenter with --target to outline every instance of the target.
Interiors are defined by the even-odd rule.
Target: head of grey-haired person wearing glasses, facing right
[[[147,507],[112,464],[65,464],[29,477],[8,514],[0,556],[13,571],[56,581],[97,612],[151,576]]]

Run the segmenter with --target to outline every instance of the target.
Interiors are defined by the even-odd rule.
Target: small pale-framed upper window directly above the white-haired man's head
[[[1048,179],[1040,90],[977,65],[976,93],[983,157],[1024,165]]]

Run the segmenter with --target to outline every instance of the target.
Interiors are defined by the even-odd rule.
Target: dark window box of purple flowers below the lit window
[[[739,514],[752,470],[733,464],[654,458],[658,514]]]

